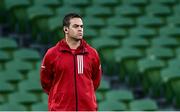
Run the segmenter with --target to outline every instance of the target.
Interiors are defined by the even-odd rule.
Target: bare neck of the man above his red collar
[[[66,37],[66,42],[71,49],[77,49],[80,46],[81,40]]]

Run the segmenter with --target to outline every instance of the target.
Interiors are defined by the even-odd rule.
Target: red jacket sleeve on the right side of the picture
[[[97,51],[95,50],[95,59],[93,63],[93,73],[92,73],[92,80],[94,85],[94,90],[96,91],[99,87],[101,76],[102,76],[102,69],[101,69],[101,63],[99,59],[99,55]]]

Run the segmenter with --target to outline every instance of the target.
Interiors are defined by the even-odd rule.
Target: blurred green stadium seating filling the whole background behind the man
[[[69,12],[101,57],[99,110],[180,110],[180,0],[1,0],[1,111],[47,110],[40,63]]]

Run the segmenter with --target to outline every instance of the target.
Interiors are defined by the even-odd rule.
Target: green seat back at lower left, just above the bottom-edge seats
[[[35,95],[28,92],[14,92],[9,95],[9,102],[29,106],[37,102]]]

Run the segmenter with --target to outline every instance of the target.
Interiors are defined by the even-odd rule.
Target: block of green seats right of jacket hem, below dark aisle
[[[158,110],[158,104],[151,98],[135,98],[129,89],[111,90],[106,80],[102,80],[96,93],[100,111],[115,110]]]

